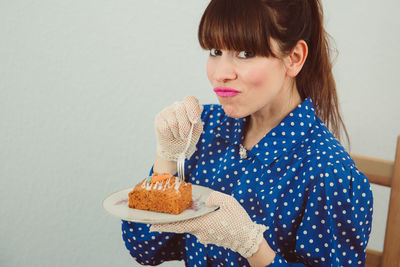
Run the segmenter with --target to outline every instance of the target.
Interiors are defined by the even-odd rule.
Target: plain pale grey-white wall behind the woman
[[[216,102],[196,39],[207,3],[0,1],[0,266],[139,266],[101,202],[147,174],[159,110]],[[324,4],[352,151],[392,159],[400,5]],[[382,227],[388,194],[374,190]]]

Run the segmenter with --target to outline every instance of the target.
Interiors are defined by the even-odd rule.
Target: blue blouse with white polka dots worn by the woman
[[[277,254],[270,266],[364,266],[372,193],[345,149],[306,99],[251,150],[241,149],[246,118],[205,105],[204,132],[186,163],[186,180],[234,196]],[[122,221],[140,264],[184,260],[186,266],[249,266],[240,254],[202,245],[190,234],[149,233]]]

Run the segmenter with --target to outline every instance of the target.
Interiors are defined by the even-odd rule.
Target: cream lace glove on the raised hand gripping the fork
[[[181,102],[175,102],[157,114],[155,130],[157,136],[157,154],[165,160],[177,161],[186,148],[193,123],[190,145],[185,153],[189,159],[196,149],[200,135],[203,132],[201,112],[203,106],[194,96],[187,96]]]

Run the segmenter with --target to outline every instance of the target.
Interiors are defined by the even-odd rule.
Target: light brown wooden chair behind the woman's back
[[[366,267],[400,267],[400,135],[395,160],[351,155],[370,183],[391,187],[383,251],[367,249]],[[373,227],[376,227],[376,225]]]

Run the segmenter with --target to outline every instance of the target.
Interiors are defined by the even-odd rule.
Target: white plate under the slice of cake
[[[113,216],[120,219],[138,223],[170,223],[196,218],[218,209],[218,206],[207,207],[207,200],[212,189],[200,185],[192,184],[193,205],[181,214],[174,215],[168,213],[132,209],[128,207],[128,194],[133,187],[123,189],[109,195],[103,200],[103,208]]]

